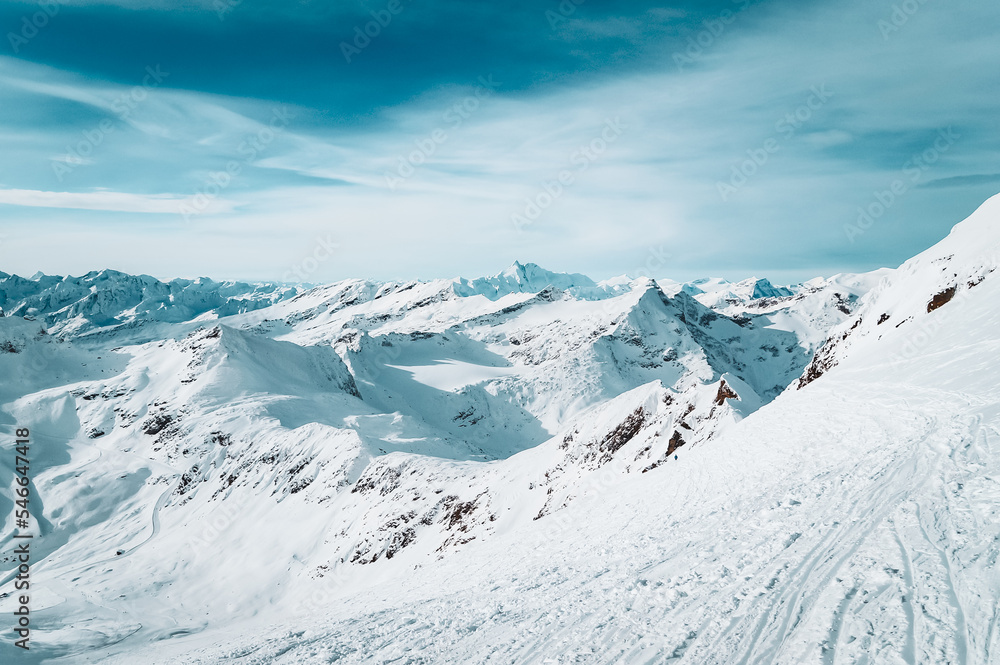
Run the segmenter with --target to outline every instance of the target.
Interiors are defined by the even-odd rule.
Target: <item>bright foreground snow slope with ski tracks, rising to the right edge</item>
[[[891,307],[915,330],[948,317],[918,354],[873,323],[823,376],[678,464],[585,484],[592,499],[440,562],[303,583],[287,615],[238,636],[122,647],[107,662],[995,662],[996,203],[977,232],[960,225],[867,300],[876,321]],[[903,276],[928,289],[893,288]],[[968,276],[964,298],[926,311]]]

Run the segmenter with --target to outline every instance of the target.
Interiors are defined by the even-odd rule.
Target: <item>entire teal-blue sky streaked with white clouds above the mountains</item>
[[[895,266],[1000,191],[998,25],[986,0],[3,2],[0,270]]]

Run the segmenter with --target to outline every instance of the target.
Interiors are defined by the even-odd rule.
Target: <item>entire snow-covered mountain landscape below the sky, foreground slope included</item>
[[[998,254],[1000,198],[789,287],[4,278],[28,662],[996,662]]]

